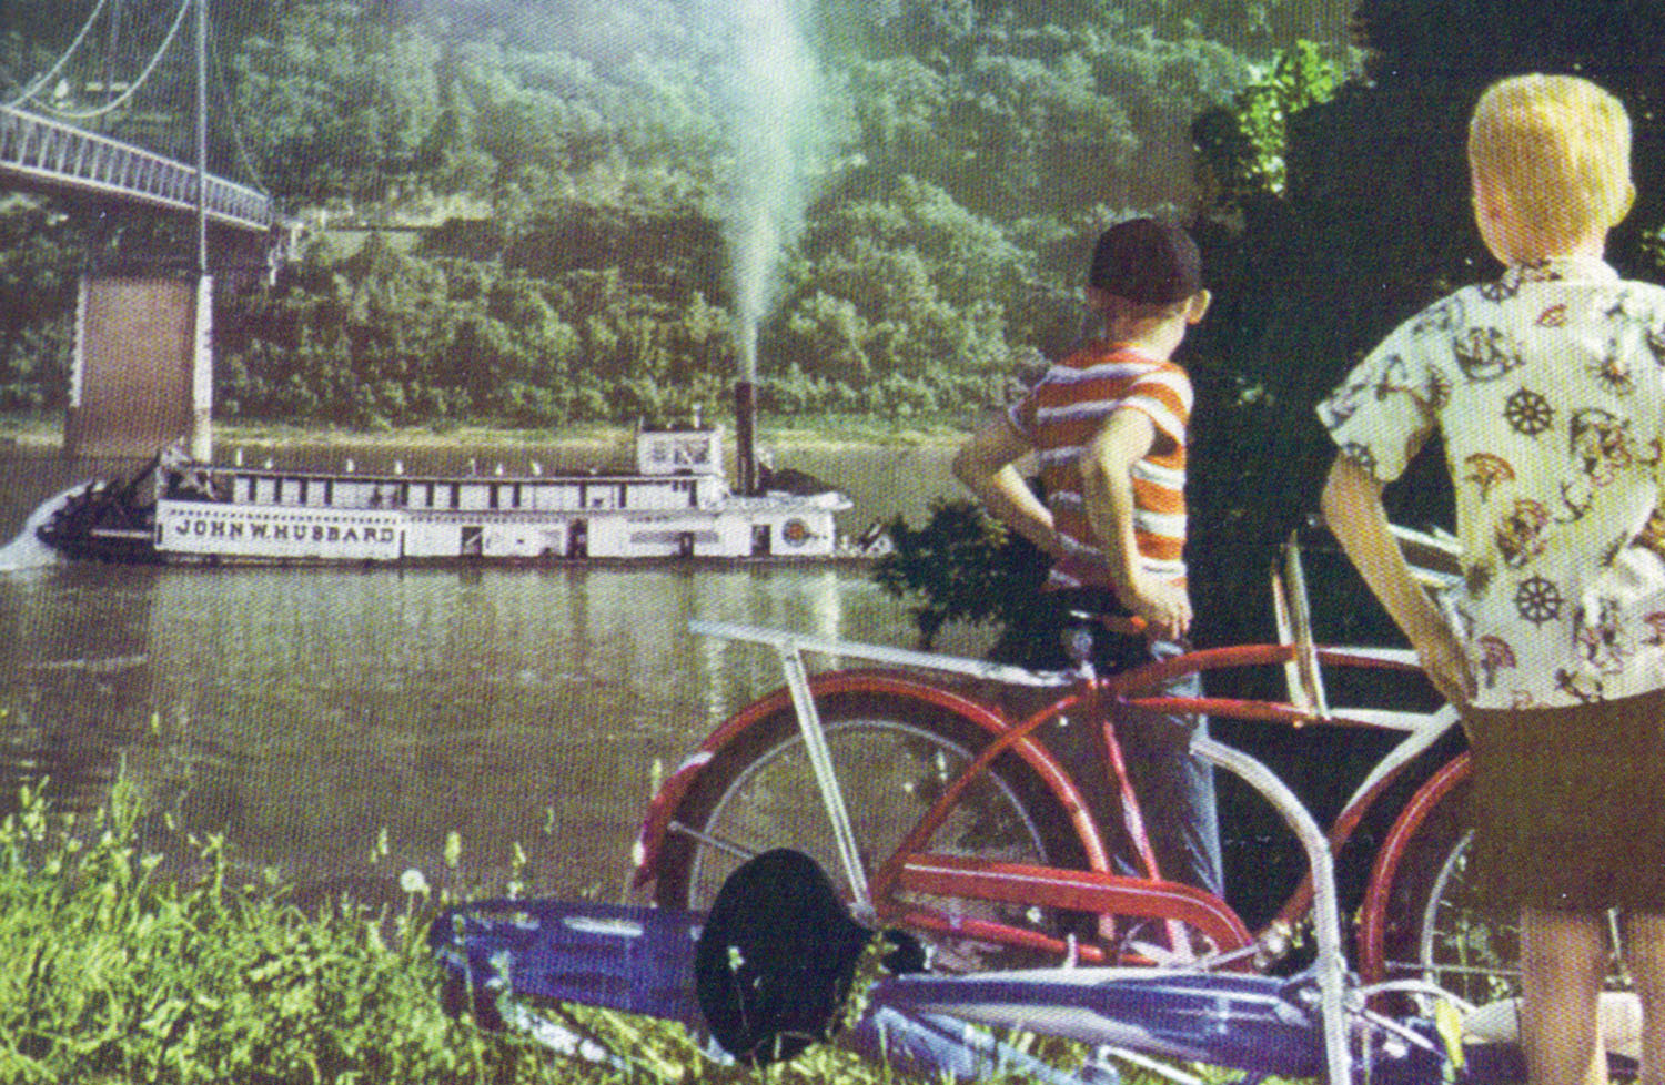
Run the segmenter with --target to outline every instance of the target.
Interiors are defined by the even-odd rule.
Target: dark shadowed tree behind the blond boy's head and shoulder
[[[1195,339],[1195,356],[1210,364],[1197,368],[1202,474],[1192,476],[1192,494],[1202,513],[1194,523],[1210,536],[1199,559],[1220,564],[1200,569],[1197,582],[1240,579],[1229,571],[1235,554],[1267,552],[1317,508],[1334,448],[1312,409],[1347,369],[1427,303],[1495,273],[1474,228],[1464,151],[1474,102],[1494,80],[1580,73],[1627,103],[1642,198],[1608,255],[1623,273],[1660,276],[1665,191],[1650,178],[1665,165],[1665,8],[1364,0],[1357,25],[1365,70],[1327,100],[1309,93],[1325,77],[1285,58],[1294,85],[1245,92],[1225,118],[1239,123],[1235,151],[1220,115],[1199,123],[1199,141],[1232,151],[1225,158],[1235,155],[1237,166],[1222,175],[1215,205],[1234,215],[1204,231],[1217,306]],[[1275,151],[1275,140],[1260,138],[1275,130],[1259,120],[1267,97],[1290,107],[1282,191],[1264,168]],[[1424,454],[1407,483],[1390,491],[1395,519],[1449,523],[1437,453]],[[1230,592],[1220,604],[1234,606]]]

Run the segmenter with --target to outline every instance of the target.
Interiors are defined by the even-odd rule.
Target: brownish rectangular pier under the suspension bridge
[[[63,448],[148,459],[185,441],[213,459],[213,278],[87,275]]]

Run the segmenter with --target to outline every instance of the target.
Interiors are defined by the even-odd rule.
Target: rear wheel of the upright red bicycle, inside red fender
[[[982,749],[987,734],[941,709],[896,697],[836,696],[823,701],[819,711],[861,862],[871,875]],[[734,867],[773,847],[803,850],[834,884],[844,880],[791,709],[766,717],[721,751],[689,789],[661,852],[654,897],[668,907],[706,909]],[[1007,862],[1082,862],[1062,805],[1012,752],[994,759],[924,847]],[[1057,934],[1064,922],[1042,909],[989,902],[909,899],[907,904],[1046,934]],[[997,945],[916,934],[942,950],[944,964],[1036,964],[1032,955],[1006,954]]]

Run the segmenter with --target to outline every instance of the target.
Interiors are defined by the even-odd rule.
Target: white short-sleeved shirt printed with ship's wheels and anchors
[[[1395,329],[1319,406],[1389,483],[1439,429],[1464,582],[1445,599],[1480,707],[1665,687],[1665,290],[1593,258],[1508,268]]]

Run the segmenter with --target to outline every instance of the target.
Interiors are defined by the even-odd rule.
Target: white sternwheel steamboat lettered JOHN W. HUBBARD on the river
[[[743,429],[746,429],[743,426]],[[743,453],[749,453],[743,433]],[[643,428],[634,471],[423,476],[213,466],[165,449],[37,526],[67,557],[122,562],[832,559],[849,499],[796,471],[723,471],[723,428]]]

